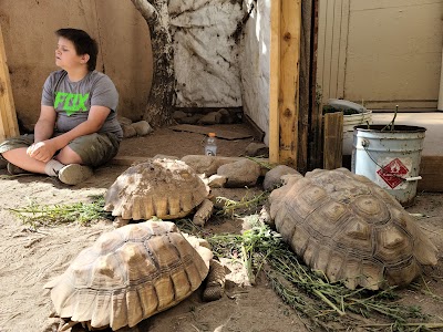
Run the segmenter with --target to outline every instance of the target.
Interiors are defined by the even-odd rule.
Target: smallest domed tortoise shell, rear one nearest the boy
[[[209,187],[184,162],[151,159],[117,177],[105,194],[104,209],[123,219],[183,218],[208,194]]]

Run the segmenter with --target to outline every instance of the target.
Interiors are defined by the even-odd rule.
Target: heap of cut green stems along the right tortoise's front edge
[[[286,303],[324,330],[334,330],[329,326],[328,322],[331,321],[346,318],[342,322],[346,324],[356,320],[354,315],[348,314],[350,312],[363,318],[378,314],[391,322],[387,326],[404,326],[411,319],[429,319],[420,312],[420,308],[399,304],[394,288],[374,292],[367,289],[350,290],[341,282],[330,283],[323,273],[301,264],[277,235],[267,226],[261,226],[243,235],[216,235],[209,238],[209,242],[217,251],[222,248],[228,250],[225,257],[233,252],[233,248],[237,248],[234,251],[241,256],[251,283],[256,278],[254,272],[262,269],[274,290]],[[416,326],[421,324],[425,323],[416,323]]]

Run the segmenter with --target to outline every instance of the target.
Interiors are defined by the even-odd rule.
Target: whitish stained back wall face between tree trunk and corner
[[[241,0],[171,0],[178,107],[241,105],[238,45]]]

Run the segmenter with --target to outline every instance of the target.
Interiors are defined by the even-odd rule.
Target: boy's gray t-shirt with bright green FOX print
[[[91,106],[111,110],[99,133],[113,133],[123,138],[117,121],[119,93],[111,79],[92,71],[79,82],[71,82],[64,70],[52,72],[43,85],[42,105],[56,112],[55,129],[65,133],[87,120]]]

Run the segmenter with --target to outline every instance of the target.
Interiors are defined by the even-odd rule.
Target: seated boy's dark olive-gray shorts
[[[62,135],[56,133],[53,137]],[[8,151],[29,147],[34,143],[34,135],[21,135],[8,138],[0,144],[0,154]],[[83,165],[101,166],[111,160],[119,152],[120,139],[112,133],[94,133],[80,136],[68,144],[83,160]]]

